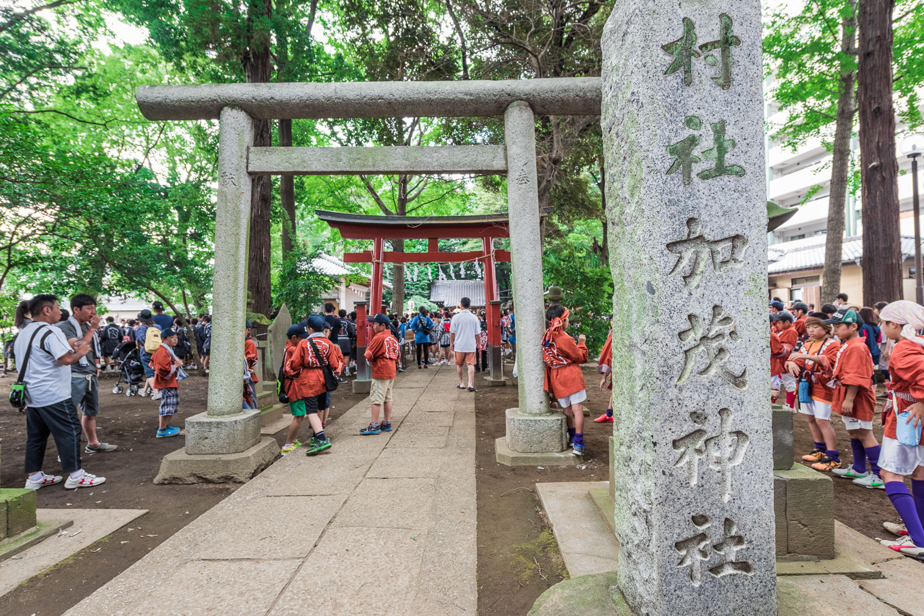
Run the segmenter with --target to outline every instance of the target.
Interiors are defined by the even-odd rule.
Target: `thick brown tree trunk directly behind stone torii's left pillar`
[[[244,56],[244,72],[248,83],[267,83],[273,75],[270,54],[270,37],[263,22],[272,15],[270,0],[250,0],[249,48]],[[254,29],[261,34],[254,36]],[[270,120],[253,120],[253,145],[272,146],[273,132]],[[249,311],[268,315],[273,310],[270,288],[270,210],[273,197],[273,178],[256,175],[250,189],[250,236],[247,269],[247,288],[250,292]]]

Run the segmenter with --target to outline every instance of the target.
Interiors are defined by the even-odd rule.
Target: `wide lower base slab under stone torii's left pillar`
[[[154,483],[246,483],[279,455],[279,443],[264,436],[239,453],[190,455],[186,449],[167,453]]]

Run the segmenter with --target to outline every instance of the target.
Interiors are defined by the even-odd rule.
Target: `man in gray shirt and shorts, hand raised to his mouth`
[[[96,416],[100,412],[100,368],[96,362],[100,358],[100,339],[97,331],[100,318],[96,314],[96,298],[80,293],[70,298],[71,315],[67,320],[57,324],[67,337],[67,342],[74,345],[87,332],[92,331],[91,349],[87,355],[80,357],[70,367],[70,396],[74,405],[80,409],[80,427],[87,438],[87,447],[83,453],[115,452],[116,445],[100,442],[96,437]]]

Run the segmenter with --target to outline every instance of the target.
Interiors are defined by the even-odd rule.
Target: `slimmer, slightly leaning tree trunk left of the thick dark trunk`
[[[841,51],[848,57],[841,63],[841,95],[837,99],[834,146],[831,163],[831,193],[828,198],[828,232],[824,245],[824,271],[821,273],[821,303],[833,304],[841,292],[841,261],[844,253],[844,210],[847,198],[847,172],[850,166],[850,136],[857,113],[857,71],[850,57],[857,54],[857,2],[842,23]],[[819,307],[821,308],[821,307]]]

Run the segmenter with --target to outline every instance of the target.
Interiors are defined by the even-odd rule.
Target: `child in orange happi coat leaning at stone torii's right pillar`
[[[542,337],[542,360],[545,361],[545,391],[551,393],[567,417],[568,436],[574,439],[575,455],[584,453],[584,405],[587,390],[580,365],[587,361],[587,338],[582,333],[577,344],[565,330],[568,310],[558,304],[545,313],[549,329]]]

